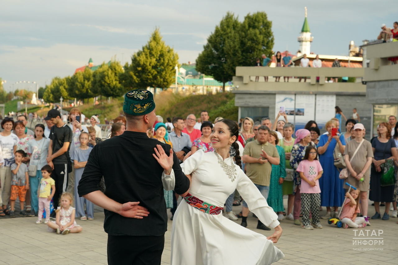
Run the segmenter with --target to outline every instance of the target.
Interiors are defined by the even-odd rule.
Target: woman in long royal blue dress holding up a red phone
[[[332,217],[330,207],[334,207],[334,217],[338,215],[338,208],[343,203],[344,189],[343,179],[339,178],[339,170],[334,166],[334,148],[339,145],[341,154],[344,154],[345,139],[343,135],[332,136],[332,128],[337,128],[334,120],[328,121],[325,125],[328,134],[323,134],[318,143],[319,162],[324,169],[322,177],[319,179],[321,189],[321,206],[326,206],[326,214],[323,219]]]

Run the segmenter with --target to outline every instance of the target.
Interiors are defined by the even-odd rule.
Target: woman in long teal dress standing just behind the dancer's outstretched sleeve
[[[280,162],[279,165],[272,165],[267,203],[278,214],[278,220],[281,221],[283,220],[282,183],[286,177],[285,150],[283,150],[283,147],[277,145],[279,139],[275,131],[269,132],[268,142],[278,150]]]

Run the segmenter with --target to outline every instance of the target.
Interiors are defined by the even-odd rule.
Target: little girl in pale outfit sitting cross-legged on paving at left
[[[57,234],[69,234],[82,232],[83,228],[76,224],[74,220],[75,208],[71,205],[73,203],[73,196],[68,192],[64,192],[61,195],[60,205],[55,212],[57,212],[56,220],[48,222],[49,232],[56,232]]]

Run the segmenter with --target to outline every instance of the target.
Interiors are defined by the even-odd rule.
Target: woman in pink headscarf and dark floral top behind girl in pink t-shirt
[[[293,218],[296,225],[300,225],[300,212],[301,212],[301,195],[300,185],[301,178],[300,173],[297,172],[298,164],[304,160],[305,149],[308,146],[315,146],[314,142],[311,141],[311,133],[307,129],[300,129],[296,131],[296,140],[290,155],[290,166],[294,170],[293,177],[293,194],[295,195],[295,203],[293,208]]]

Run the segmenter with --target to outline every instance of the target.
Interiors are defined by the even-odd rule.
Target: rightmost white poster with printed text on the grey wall
[[[316,95],[315,121],[319,129],[322,129],[335,116],[334,107],[336,107],[336,95]]]

